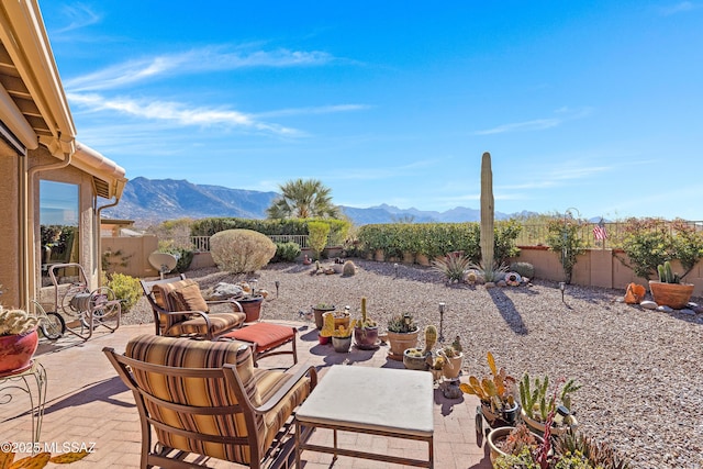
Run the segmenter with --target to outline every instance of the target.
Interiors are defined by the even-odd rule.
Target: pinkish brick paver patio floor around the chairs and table
[[[300,366],[314,366],[324,379],[331,365],[402,368],[402,362],[387,359],[388,347],[378,350],[356,350],[336,354],[332,345],[320,345],[317,333],[306,324],[294,324],[300,328],[298,354]],[[94,451],[86,459],[72,464],[71,468],[126,468],[138,467],[141,429],[137,410],[132,393],[118,378],[102,347],[113,347],[122,353],[130,337],[150,334],[153,326],[122,326],[114,333],[96,332],[83,342],[65,336],[56,343],[42,339],[35,355],[47,371],[47,400],[42,426],[41,443],[58,450],[64,445],[89,446]],[[288,367],[290,356],[264,358],[261,367]],[[372,383],[371,383],[372,386]],[[0,384],[0,389],[1,389]],[[10,402],[5,402],[9,394]],[[478,445],[473,416],[478,401],[464,395],[448,400],[440,390],[435,390],[435,467],[437,469],[488,469],[491,467],[486,445]],[[345,405],[345,403],[341,403]],[[357,405],[346,403],[346,405]],[[0,391],[0,443],[30,442],[31,421],[26,413],[29,398],[16,390]],[[409,410],[412,411],[412,410]],[[319,429],[312,442],[327,442],[332,432]],[[426,445],[397,438],[370,437],[368,435],[339,434],[341,445],[362,445],[380,451],[402,451],[404,455],[425,457]],[[481,442],[482,443],[482,442]],[[56,451],[55,451],[56,453]],[[332,456],[303,451],[305,469],[330,468]],[[232,467],[231,462],[210,459],[214,468]],[[401,466],[377,461],[339,457],[335,468],[399,468]]]

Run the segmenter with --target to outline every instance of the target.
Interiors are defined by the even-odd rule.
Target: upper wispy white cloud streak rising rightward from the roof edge
[[[323,52],[289,49],[223,51],[223,47],[203,47],[179,54],[129,60],[92,74],[64,80],[67,90],[94,91],[120,88],[166,76],[203,74],[214,70],[232,70],[245,67],[294,67],[323,65],[333,57]]]

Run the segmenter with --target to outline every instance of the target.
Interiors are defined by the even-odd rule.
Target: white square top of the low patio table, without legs
[[[334,365],[298,410],[302,423],[428,436],[434,386],[426,371]]]

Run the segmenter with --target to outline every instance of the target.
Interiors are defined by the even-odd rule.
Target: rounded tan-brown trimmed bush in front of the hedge
[[[271,260],[276,245],[268,236],[252,230],[225,230],[210,237],[210,253],[220,270],[249,273]]]

